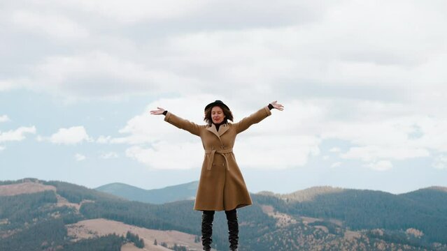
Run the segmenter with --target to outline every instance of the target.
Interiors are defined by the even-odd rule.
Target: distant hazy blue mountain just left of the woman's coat
[[[199,181],[192,181],[190,183],[172,185],[166,188],[144,190],[123,183],[111,183],[95,188],[95,190],[129,199],[131,201],[164,204],[172,201],[194,199],[198,185]]]

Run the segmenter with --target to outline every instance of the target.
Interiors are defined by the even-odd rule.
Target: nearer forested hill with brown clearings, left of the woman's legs
[[[164,246],[178,243],[199,250],[197,234],[189,234],[197,229],[172,223],[164,211],[71,183],[0,181],[0,250],[142,250],[136,248],[141,243],[143,250],[169,250]]]

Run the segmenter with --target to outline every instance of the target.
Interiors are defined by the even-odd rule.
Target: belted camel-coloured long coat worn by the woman
[[[234,158],[234,139],[239,132],[269,115],[269,107],[263,107],[238,123],[220,126],[217,131],[214,124],[199,126],[171,112],[166,114],[164,121],[199,136],[204,146],[205,157],[194,210],[228,211],[252,204],[241,170]]]

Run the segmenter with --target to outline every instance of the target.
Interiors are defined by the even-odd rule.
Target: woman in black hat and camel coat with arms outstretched
[[[181,119],[161,107],[150,111],[150,114],[154,115],[164,114],[164,121],[201,138],[205,158],[194,210],[203,211],[201,239],[204,250],[211,250],[215,211],[225,211],[228,221],[229,248],[233,251],[237,250],[239,225],[236,208],[249,206],[252,201],[234,158],[234,140],[238,133],[271,115],[271,109],[282,111],[283,105],[274,101],[238,123],[229,123],[228,121],[233,121],[231,110],[222,101],[215,100],[205,107],[204,121],[207,124],[204,126]]]

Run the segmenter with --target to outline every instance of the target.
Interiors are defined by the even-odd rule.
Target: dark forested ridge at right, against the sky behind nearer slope
[[[374,190],[325,187],[271,196],[278,199],[270,203],[281,213],[334,219],[355,231],[386,229],[397,233],[403,229],[418,229],[423,233],[420,243],[447,242],[444,234],[447,232],[447,188],[424,188],[393,195]]]

